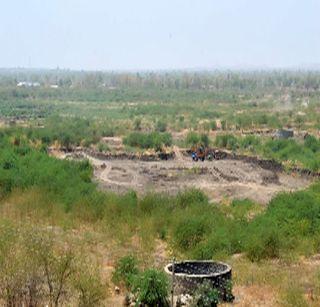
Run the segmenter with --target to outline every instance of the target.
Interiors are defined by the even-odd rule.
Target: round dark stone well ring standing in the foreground
[[[174,274],[173,274],[174,266]],[[186,260],[169,263],[165,272],[170,276],[174,284],[174,294],[193,295],[199,285],[209,282],[217,289],[219,296],[224,301],[233,300],[231,293],[231,267],[222,262]]]

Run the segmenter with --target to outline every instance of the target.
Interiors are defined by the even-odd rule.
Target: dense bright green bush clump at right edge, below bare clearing
[[[252,236],[246,250],[251,260],[279,257],[281,250],[295,249],[303,240],[316,239],[320,229],[318,188],[319,184],[307,191],[276,196],[266,213],[250,223]],[[312,247],[312,242],[307,246]]]

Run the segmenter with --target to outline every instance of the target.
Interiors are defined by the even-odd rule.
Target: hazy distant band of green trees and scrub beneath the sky
[[[17,79],[37,81],[41,86],[20,88],[16,86]],[[51,89],[50,84],[58,84],[59,88]],[[302,116],[301,101],[305,101],[305,92],[310,88],[310,104]],[[289,91],[293,109],[277,111],[282,104],[280,97]],[[132,127],[140,131],[144,128],[141,119],[143,126],[148,126],[162,118],[170,123],[170,128],[179,129],[199,128],[197,123],[202,119],[206,130],[207,123],[212,123],[211,129],[215,129],[216,118],[221,120],[223,130],[279,128],[287,124],[301,127],[302,121],[316,127],[318,119],[314,110],[318,94],[319,73],[309,71],[0,72],[1,117],[13,119],[12,122],[31,121],[35,126],[44,124],[46,130],[47,119],[59,116],[63,125],[72,130],[64,140],[59,136],[59,141],[67,145],[70,138],[72,145],[78,142],[73,133],[75,119],[89,121],[89,125],[81,124],[87,145],[96,143],[99,135],[112,136],[119,131],[126,134]],[[125,123],[128,120],[130,123]]]

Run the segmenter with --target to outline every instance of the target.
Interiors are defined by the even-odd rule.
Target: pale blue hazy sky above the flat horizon
[[[0,67],[320,67],[320,0],[0,0]]]

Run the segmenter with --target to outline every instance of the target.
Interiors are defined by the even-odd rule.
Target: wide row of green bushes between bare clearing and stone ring
[[[317,250],[318,186],[278,195],[264,213],[253,219],[249,219],[248,212],[256,207],[247,200],[234,201],[226,213],[215,206],[182,206],[183,213],[175,213],[172,232],[175,246],[200,259],[246,252],[252,261],[279,258],[289,250],[299,253]],[[303,245],[303,241],[308,243]]]

